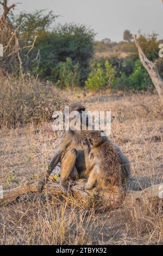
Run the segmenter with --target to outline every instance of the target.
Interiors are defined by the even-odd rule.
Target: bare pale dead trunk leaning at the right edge
[[[139,52],[140,61],[143,67],[147,70],[149,76],[152,79],[152,82],[160,96],[161,104],[163,105],[163,80],[159,75],[158,68],[155,63],[151,62],[143,53],[142,48],[139,45],[136,35],[134,36],[135,44]]]

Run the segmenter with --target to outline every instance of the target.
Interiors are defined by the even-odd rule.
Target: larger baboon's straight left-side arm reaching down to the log
[[[55,152],[53,159],[48,166],[47,173],[43,178],[40,178],[40,180],[38,181],[37,188],[39,192],[42,192],[43,186],[46,184],[49,178],[49,175],[51,175],[54,168],[60,162],[62,154],[70,144],[71,144],[71,138],[70,136],[67,135],[67,133],[64,133],[64,135],[58,139],[57,146],[56,146],[57,151]]]

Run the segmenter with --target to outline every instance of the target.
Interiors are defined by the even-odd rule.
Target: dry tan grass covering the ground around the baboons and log
[[[163,171],[163,121],[157,95],[109,96],[85,99],[89,110],[110,110],[112,140],[131,161],[134,175],[159,176]],[[38,133],[34,131],[40,129]],[[55,150],[51,124],[0,131],[1,184],[16,186],[37,178]],[[12,175],[11,175],[12,174]],[[12,176],[12,181],[11,178]],[[14,182],[15,181],[15,182]],[[8,182],[8,183],[7,183]],[[131,208],[99,207],[70,199],[22,196],[1,206],[1,244],[162,244],[162,202]]]

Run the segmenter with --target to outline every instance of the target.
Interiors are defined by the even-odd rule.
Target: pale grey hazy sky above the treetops
[[[9,3],[17,1],[9,0]],[[97,33],[96,40],[123,39],[129,29],[136,34],[158,33],[163,38],[163,4],[161,0],[19,0],[15,13],[22,10],[53,10],[60,15],[57,22],[75,22],[90,26]]]

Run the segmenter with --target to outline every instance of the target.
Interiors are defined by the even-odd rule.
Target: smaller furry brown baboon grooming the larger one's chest
[[[97,182],[103,189],[122,186],[125,174],[122,172],[118,152],[103,131],[85,132],[83,147],[87,150],[89,160],[95,164],[91,170],[86,190],[91,190]]]

